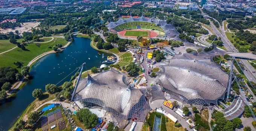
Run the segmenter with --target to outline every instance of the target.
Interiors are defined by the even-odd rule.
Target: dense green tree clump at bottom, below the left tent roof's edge
[[[97,115],[91,113],[89,109],[81,109],[77,112],[77,117],[86,128],[92,128],[97,125],[98,117]]]

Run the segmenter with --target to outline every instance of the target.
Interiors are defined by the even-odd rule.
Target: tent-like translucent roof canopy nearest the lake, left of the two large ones
[[[96,104],[111,113],[117,122],[130,118],[143,121],[150,111],[146,90],[130,88],[127,81],[126,74],[114,69],[81,79],[75,101]]]

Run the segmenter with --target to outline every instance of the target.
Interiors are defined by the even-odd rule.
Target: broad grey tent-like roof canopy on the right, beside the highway
[[[217,105],[217,100],[224,98],[229,75],[208,62],[174,57],[168,65],[162,66],[157,83],[184,103]]]

